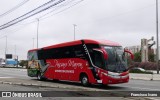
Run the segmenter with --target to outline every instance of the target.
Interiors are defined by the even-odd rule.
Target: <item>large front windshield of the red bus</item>
[[[103,46],[108,53],[106,61],[107,70],[111,72],[127,71],[127,63],[125,60],[124,50],[121,46]]]

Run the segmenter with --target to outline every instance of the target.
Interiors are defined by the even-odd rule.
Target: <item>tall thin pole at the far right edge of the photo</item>
[[[157,74],[159,74],[159,36],[158,36],[158,0],[156,0],[156,35],[157,35]]]

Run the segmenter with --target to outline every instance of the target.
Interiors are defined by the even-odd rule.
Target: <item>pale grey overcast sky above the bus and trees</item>
[[[0,15],[22,1],[24,0],[1,0]],[[48,1],[50,0],[29,0],[13,12],[0,16],[0,25]],[[141,38],[149,39],[156,36],[156,0],[83,0],[70,7],[78,1],[80,0],[70,2],[68,5],[66,2],[0,30],[0,58],[4,58],[6,47],[4,36],[7,36],[7,53],[16,53],[19,59],[27,59],[27,51],[36,48],[37,44],[36,18],[50,11],[52,13],[44,16],[45,19],[40,19],[39,22],[39,48],[72,41],[73,24],[77,25],[76,39],[106,39],[118,42],[123,47],[140,45]],[[62,11],[67,7],[70,8]],[[61,13],[57,13],[59,11]]]

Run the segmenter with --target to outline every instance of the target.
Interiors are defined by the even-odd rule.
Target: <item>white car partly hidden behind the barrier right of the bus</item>
[[[140,67],[134,67],[132,69],[130,69],[129,71],[130,73],[145,73],[145,74],[153,74],[153,72],[151,71],[147,71],[143,68],[140,68]]]

